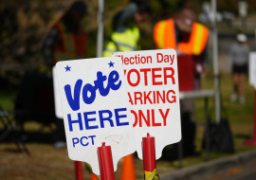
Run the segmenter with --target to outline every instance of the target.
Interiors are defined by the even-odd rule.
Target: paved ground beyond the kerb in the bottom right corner
[[[253,151],[159,175],[161,180],[255,180],[255,170]]]

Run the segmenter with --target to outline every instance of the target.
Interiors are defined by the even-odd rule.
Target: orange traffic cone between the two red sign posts
[[[123,157],[120,180],[136,180],[133,154]]]

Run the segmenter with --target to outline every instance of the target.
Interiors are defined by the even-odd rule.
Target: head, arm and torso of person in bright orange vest
[[[183,5],[185,6],[185,5]],[[200,89],[200,74],[204,72],[209,29],[195,22],[195,12],[184,7],[174,18],[157,22],[154,27],[156,48],[174,48],[177,55],[191,55],[194,64],[194,88]]]

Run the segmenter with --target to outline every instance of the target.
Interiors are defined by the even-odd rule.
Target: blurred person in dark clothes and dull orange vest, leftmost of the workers
[[[82,19],[87,14],[83,1],[75,1],[64,12],[62,18],[49,30],[43,45],[43,56],[48,70],[59,61],[85,58],[86,34],[82,30]],[[56,121],[54,147],[65,147],[64,122]]]

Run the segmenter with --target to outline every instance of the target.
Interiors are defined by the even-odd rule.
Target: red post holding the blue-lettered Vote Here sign
[[[105,142],[102,142],[102,146],[98,148],[98,158],[101,180],[115,180],[111,146],[105,146]]]

